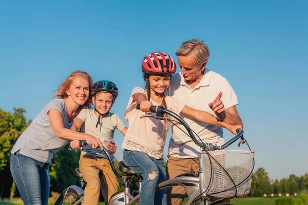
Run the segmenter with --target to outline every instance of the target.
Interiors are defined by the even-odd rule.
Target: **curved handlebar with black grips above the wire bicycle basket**
[[[136,105],[136,109],[140,110],[140,104]],[[241,138],[241,141],[238,144],[238,147],[240,147],[240,144],[244,144],[245,143],[245,139],[244,139],[244,130],[243,129],[236,129],[236,132],[238,133],[235,137],[233,137],[232,139],[230,139],[229,141],[227,141],[225,144],[223,144],[222,146],[215,146],[209,142],[206,143],[202,143],[200,141],[197,140],[196,136],[194,135],[194,133],[192,133],[190,127],[187,125],[187,123],[184,121],[184,119],[182,119],[182,117],[180,117],[179,115],[177,115],[174,112],[171,112],[170,110],[165,109],[163,106],[151,106],[150,111],[153,113],[158,113],[159,115],[163,115],[163,114],[168,114],[172,117],[174,117],[175,119],[177,119],[180,124],[182,124],[185,129],[188,132],[189,137],[192,139],[192,141],[195,142],[196,145],[198,145],[199,147],[206,147],[209,150],[223,150],[227,147],[229,147],[230,145],[232,145],[237,139]],[[152,115],[145,115],[145,116],[141,116],[141,117],[153,117]],[[155,117],[155,116],[154,116]],[[155,117],[156,118],[156,117]],[[157,118],[157,119],[162,119],[162,118]]]

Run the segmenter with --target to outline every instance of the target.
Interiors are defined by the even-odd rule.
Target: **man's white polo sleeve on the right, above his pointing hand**
[[[239,104],[233,88],[226,79],[221,84],[220,91],[222,91],[221,101],[223,102],[225,109]]]

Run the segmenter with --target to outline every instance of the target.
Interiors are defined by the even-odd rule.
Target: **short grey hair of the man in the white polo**
[[[209,58],[209,49],[203,43],[203,40],[191,39],[183,42],[180,48],[177,50],[176,55],[193,55],[196,59],[198,66],[202,66],[204,61]]]

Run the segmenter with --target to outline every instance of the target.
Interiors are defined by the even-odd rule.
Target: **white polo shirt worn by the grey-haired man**
[[[191,89],[186,84],[181,73],[175,74],[171,78],[170,86],[168,90],[166,90],[166,95],[177,98],[191,108],[206,111],[216,116],[215,112],[208,107],[208,104],[213,102],[220,91],[222,91],[221,101],[225,109],[238,104],[237,96],[226,78],[206,69],[200,83],[196,85],[194,89]],[[205,124],[204,122],[197,121],[182,113],[180,116],[187,122],[189,127],[199,135],[203,142],[210,142],[218,146],[224,144],[223,130],[221,127]],[[183,126],[180,127],[182,129],[184,128]],[[198,157],[199,152],[199,146],[179,128],[172,126],[169,156],[194,158]]]

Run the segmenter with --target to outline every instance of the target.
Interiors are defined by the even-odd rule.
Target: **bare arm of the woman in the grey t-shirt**
[[[62,113],[57,109],[51,109],[48,112],[50,126],[55,135],[60,139],[66,140],[86,140],[87,144],[92,148],[100,147],[103,149],[102,142],[92,135],[70,130],[64,127]]]

